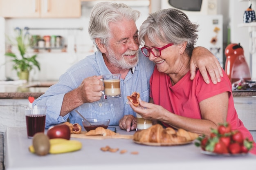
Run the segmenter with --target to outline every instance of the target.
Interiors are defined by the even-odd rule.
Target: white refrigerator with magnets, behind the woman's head
[[[195,46],[207,48],[220,60],[222,68],[225,68],[223,60],[223,16],[222,15],[191,15],[191,22],[199,25],[198,41]]]

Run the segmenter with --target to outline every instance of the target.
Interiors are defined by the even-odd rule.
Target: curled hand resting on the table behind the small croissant
[[[125,115],[119,120],[119,127],[127,132],[135,130],[137,127],[137,118],[133,115]]]

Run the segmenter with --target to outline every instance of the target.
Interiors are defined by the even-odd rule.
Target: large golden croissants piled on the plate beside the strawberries
[[[185,133],[184,130],[180,130],[179,133],[176,133],[173,128],[164,129],[160,124],[155,124],[148,129],[135,132],[133,140],[153,143],[179,143],[191,141],[196,138],[195,136],[198,135],[193,135],[192,132]]]

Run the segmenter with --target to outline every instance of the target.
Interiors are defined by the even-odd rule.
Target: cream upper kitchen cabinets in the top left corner
[[[81,0],[0,0],[4,18],[79,18]]]

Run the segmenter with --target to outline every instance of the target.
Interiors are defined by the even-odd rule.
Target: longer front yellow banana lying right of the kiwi
[[[59,154],[65,152],[73,152],[80,150],[82,148],[82,143],[76,140],[67,140],[61,143],[53,144],[50,147],[50,154]]]

